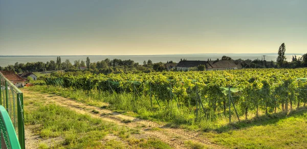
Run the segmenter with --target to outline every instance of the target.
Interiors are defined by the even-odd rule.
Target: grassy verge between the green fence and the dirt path
[[[170,148],[159,139],[135,138],[139,130],[78,114],[42,97],[25,95],[24,104],[26,128],[35,126],[33,131],[43,140],[61,140],[40,143],[39,148]]]

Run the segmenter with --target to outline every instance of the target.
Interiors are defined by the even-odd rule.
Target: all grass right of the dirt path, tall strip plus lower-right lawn
[[[277,111],[276,114],[268,116],[260,111],[258,118],[252,111],[248,114],[248,120],[244,120],[244,116],[240,116],[241,122],[238,122],[235,115],[232,115],[233,122],[229,124],[228,117],[223,114],[212,119],[195,121],[194,113],[188,109],[178,110],[176,106],[167,109],[153,107],[154,111],[151,112],[148,107],[150,105],[149,99],[139,98],[135,101],[133,98],[129,98],[129,95],[102,95],[98,98],[97,93],[85,94],[82,91],[76,91],[76,93],[55,87],[30,89],[56,93],[85,103],[93,101],[92,105],[94,103],[99,107],[102,107],[102,103],[108,102],[109,105],[104,108],[121,111],[124,114],[143,119],[168,122],[170,127],[202,131],[204,138],[226,148],[307,148],[307,108],[294,108],[290,113]],[[185,142],[185,146],[187,148],[206,148],[206,146],[189,141]]]

